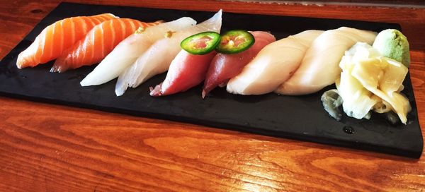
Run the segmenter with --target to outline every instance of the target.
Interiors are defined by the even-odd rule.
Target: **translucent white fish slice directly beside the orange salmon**
[[[114,78],[133,64],[157,40],[164,38],[168,31],[179,31],[196,25],[189,17],[179,18],[149,28],[139,28],[135,34],[125,38],[113,51],[101,61],[94,71],[81,80],[81,86],[101,85]]]

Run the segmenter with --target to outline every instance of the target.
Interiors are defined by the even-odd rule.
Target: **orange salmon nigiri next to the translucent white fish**
[[[84,39],[64,51],[56,59],[50,72],[64,72],[68,69],[96,64],[102,61],[119,42],[134,33],[137,28],[147,28],[159,23],[162,22],[144,23],[130,18],[106,20],[91,29]]]

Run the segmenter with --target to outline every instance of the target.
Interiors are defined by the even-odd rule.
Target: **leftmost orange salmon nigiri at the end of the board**
[[[81,16],[58,20],[47,26],[34,42],[18,56],[18,68],[33,67],[56,59],[62,52],[86,36],[94,26],[115,19],[113,14]]]

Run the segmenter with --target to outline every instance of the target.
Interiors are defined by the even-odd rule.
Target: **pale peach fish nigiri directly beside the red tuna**
[[[273,92],[300,66],[305,52],[322,30],[306,30],[268,44],[229,80],[227,92],[261,95]]]

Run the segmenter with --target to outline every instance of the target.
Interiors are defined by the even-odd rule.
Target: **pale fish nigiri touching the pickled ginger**
[[[356,42],[373,44],[376,32],[354,28],[327,30],[305,53],[293,76],[275,91],[282,95],[307,95],[335,83],[341,74],[339,61]]]

